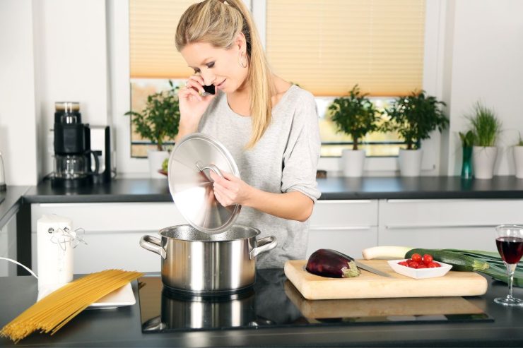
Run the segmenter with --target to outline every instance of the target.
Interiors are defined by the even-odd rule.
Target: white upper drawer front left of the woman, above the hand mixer
[[[46,203],[31,205],[31,231],[44,214],[73,220],[86,231],[152,231],[186,224],[175,203]]]

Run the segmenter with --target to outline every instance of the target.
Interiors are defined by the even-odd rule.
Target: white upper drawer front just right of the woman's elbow
[[[377,200],[318,200],[310,228],[377,226]]]

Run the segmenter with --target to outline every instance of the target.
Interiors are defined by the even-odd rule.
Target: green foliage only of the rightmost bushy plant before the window
[[[445,105],[445,102],[426,95],[423,90],[399,97],[385,109],[389,117],[386,129],[398,132],[405,140],[407,150],[419,148],[421,140],[430,138],[430,132],[447,128],[449,119],[440,109]]]

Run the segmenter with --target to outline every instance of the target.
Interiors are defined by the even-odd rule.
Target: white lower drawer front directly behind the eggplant
[[[361,251],[377,245],[377,227],[366,229],[310,229],[307,258],[318,249],[334,249],[361,258]]]

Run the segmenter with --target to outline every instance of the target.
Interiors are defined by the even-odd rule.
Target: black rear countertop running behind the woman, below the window
[[[459,176],[365,177],[318,179],[320,200],[523,198],[523,179],[495,176],[490,180]],[[30,187],[28,203],[170,202],[165,179],[115,179],[78,189],[53,188],[50,181]]]

